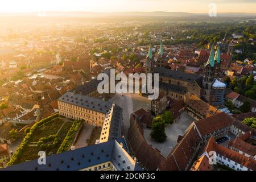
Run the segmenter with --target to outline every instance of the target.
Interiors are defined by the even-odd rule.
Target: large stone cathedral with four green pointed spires
[[[152,55],[152,46],[148,50],[145,60],[146,73],[159,74],[159,93],[175,100],[187,102],[193,95],[203,98],[210,105],[220,106],[224,104],[224,93],[226,84],[218,81],[220,73],[220,46],[217,46],[216,53],[214,46],[205,64],[203,76],[183,71],[174,71],[163,68],[164,63],[163,44],[157,53],[157,61]]]

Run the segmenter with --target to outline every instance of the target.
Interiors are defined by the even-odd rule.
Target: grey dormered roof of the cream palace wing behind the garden
[[[97,98],[87,97],[74,92],[66,92],[59,98],[59,101],[104,114],[108,113],[112,106],[112,103],[109,101],[102,101]]]

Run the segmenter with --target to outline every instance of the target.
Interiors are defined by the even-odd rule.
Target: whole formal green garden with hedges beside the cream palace
[[[35,123],[31,129],[26,130],[26,137],[20,143],[8,166],[37,159],[39,151],[52,155],[69,150],[81,124],[82,122],[79,121],[61,118],[59,114]]]

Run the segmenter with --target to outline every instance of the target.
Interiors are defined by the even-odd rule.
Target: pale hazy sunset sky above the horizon
[[[256,13],[256,0],[1,0],[0,11],[178,11],[208,13],[209,3],[216,3],[218,13]]]

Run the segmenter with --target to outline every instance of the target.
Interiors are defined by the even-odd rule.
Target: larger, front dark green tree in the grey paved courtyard
[[[166,132],[164,131],[165,123],[161,117],[155,117],[152,123],[152,130],[150,136],[157,142],[164,142],[166,140]]]

